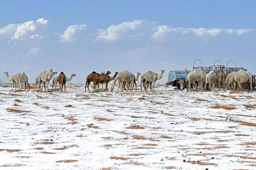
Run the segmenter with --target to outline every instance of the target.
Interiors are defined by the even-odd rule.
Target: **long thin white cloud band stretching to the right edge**
[[[207,35],[211,35],[215,37],[220,33],[242,35],[250,32],[256,32],[256,30],[253,30],[253,29],[222,29],[222,28],[207,29],[207,28],[182,28],[182,27],[172,28],[169,25],[158,25],[157,27],[153,28],[153,30],[156,30],[156,32],[154,32],[151,38],[156,40],[163,40],[165,35],[170,32],[176,32],[181,34],[194,33],[199,37],[205,37]]]

